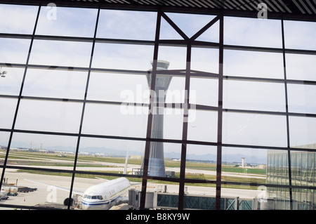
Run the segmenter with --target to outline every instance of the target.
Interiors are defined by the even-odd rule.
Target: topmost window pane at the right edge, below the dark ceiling
[[[284,20],[285,48],[316,50],[316,22]]]

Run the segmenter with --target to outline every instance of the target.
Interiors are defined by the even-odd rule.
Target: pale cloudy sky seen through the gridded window
[[[73,37],[93,37],[97,11],[84,8],[62,8],[56,11],[57,19],[48,20],[48,10],[41,8],[36,34]],[[0,5],[0,32],[32,34],[37,15],[35,6]],[[166,13],[188,37],[192,37],[215,16],[185,15]],[[154,40],[156,13],[135,11],[100,12],[97,37],[110,39]],[[224,44],[242,46],[282,47],[281,22],[279,20],[258,20],[249,18],[225,18]],[[284,21],[286,48],[316,50],[316,23]],[[218,22],[208,29],[198,40],[218,42]],[[180,39],[173,28],[162,19],[161,39]],[[0,62],[25,63],[30,41],[28,39],[3,39],[0,41]],[[91,43],[69,41],[35,40],[29,64],[62,65],[88,67]],[[93,67],[122,70],[150,70],[153,46],[131,44],[97,43]],[[169,70],[184,70],[186,65],[185,47],[159,47],[159,60],[170,62]],[[287,76],[289,79],[316,81],[316,56],[287,54]],[[218,50],[192,48],[192,70],[218,73]],[[7,77],[0,79],[0,94],[18,95],[23,68],[4,67]],[[224,75],[237,77],[264,77],[282,79],[284,77],[281,53],[262,53],[251,51],[224,51]],[[87,72],[65,72],[54,70],[28,69],[23,95],[53,98],[83,99]],[[185,79],[173,77],[170,91],[182,91]],[[142,75],[126,75],[91,72],[88,100],[121,101],[120,93],[126,89],[135,93],[137,102],[147,102],[139,98],[137,89],[148,90],[147,79]],[[218,106],[218,81],[216,79],[191,79],[190,90],[197,94],[198,104]],[[223,107],[231,109],[264,110],[285,112],[284,85],[269,82],[224,81]],[[316,113],[315,86],[289,84],[289,111]],[[143,96],[143,95],[142,95]],[[168,98],[179,103],[177,99]],[[182,101],[183,98],[180,98]],[[16,99],[0,98],[2,118],[0,126],[11,129]],[[169,101],[170,102],[170,101]],[[5,108],[5,110],[3,109]],[[36,131],[75,132],[79,130],[81,103],[45,102],[42,100],[22,100],[16,129]],[[146,114],[124,115],[119,105],[87,104],[83,133],[130,136],[145,138],[147,129]],[[175,113],[175,112],[174,112]],[[164,138],[182,138],[182,112],[165,115]],[[217,113],[197,111],[196,119],[189,124],[188,139],[216,142]],[[316,143],[316,119],[290,117],[291,145]],[[223,143],[287,146],[285,117],[264,114],[223,115]],[[56,142],[63,146],[76,145],[75,138],[49,136],[45,139],[32,139],[34,136],[15,134],[14,141],[43,143],[51,147]],[[8,133],[0,133],[0,141],[5,142]],[[72,139],[72,140],[70,140]],[[99,143],[101,141],[102,143]],[[143,143],[119,140],[82,140],[81,146],[114,145],[124,150],[126,144],[133,150],[143,147]],[[123,145],[123,146],[122,146]],[[172,145],[172,144],[171,144]],[[201,149],[201,150],[200,150]],[[168,146],[165,150],[180,152],[180,147]],[[249,151],[247,151],[249,152]],[[202,147],[192,150],[195,154],[207,153]],[[230,153],[228,150],[226,153]],[[258,154],[258,150],[254,150]],[[263,152],[265,156],[265,152]]]

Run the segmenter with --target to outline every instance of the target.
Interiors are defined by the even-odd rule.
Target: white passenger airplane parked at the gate
[[[126,174],[127,169],[127,158],[124,166],[124,174]],[[99,178],[102,179],[102,178]],[[27,180],[27,179],[25,179]],[[105,180],[105,179],[103,179]],[[54,185],[48,185],[46,183],[41,183],[34,180],[28,180],[33,183],[39,183],[42,185],[53,186],[60,190],[65,190],[70,192],[70,189],[65,187],[59,187]],[[72,193],[74,195],[81,195],[81,205],[85,210],[108,210],[111,209],[112,206],[116,206],[122,203],[129,202],[129,197],[121,197],[131,185],[137,185],[139,183],[131,184],[127,178],[116,178],[114,180],[106,180],[104,183],[100,183],[98,185],[93,185],[88,187],[84,192],[78,192],[73,190]],[[69,199],[65,199],[64,204],[67,205]]]

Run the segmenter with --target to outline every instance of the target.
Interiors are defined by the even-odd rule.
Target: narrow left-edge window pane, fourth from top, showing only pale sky
[[[0,127],[1,129],[11,129],[13,124],[13,118],[16,110],[17,99],[11,98],[0,98],[0,108],[1,109],[1,119]]]

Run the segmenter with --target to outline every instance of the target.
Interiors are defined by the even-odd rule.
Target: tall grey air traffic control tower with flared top
[[[167,70],[169,67],[169,62],[164,60],[159,60],[157,62],[157,70]],[[152,108],[152,138],[162,139],[164,135],[164,106],[159,107],[159,104],[164,105],[165,103],[165,93],[169,88],[172,77],[164,74],[157,74],[156,86],[154,91],[156,93],[156,98],[154,99],[154,105]],[[148,86],[150,88],[152,76],[147,75]],[[159,94],[160,93],[160,94]],[[143,173],[144,160],[141,166],[141,171]],[[165,177],[165,167],[164,167],[164,143],[161,142],[151,142],[150,143],[150,157],[148,162],[148,176],[161,176]]]

